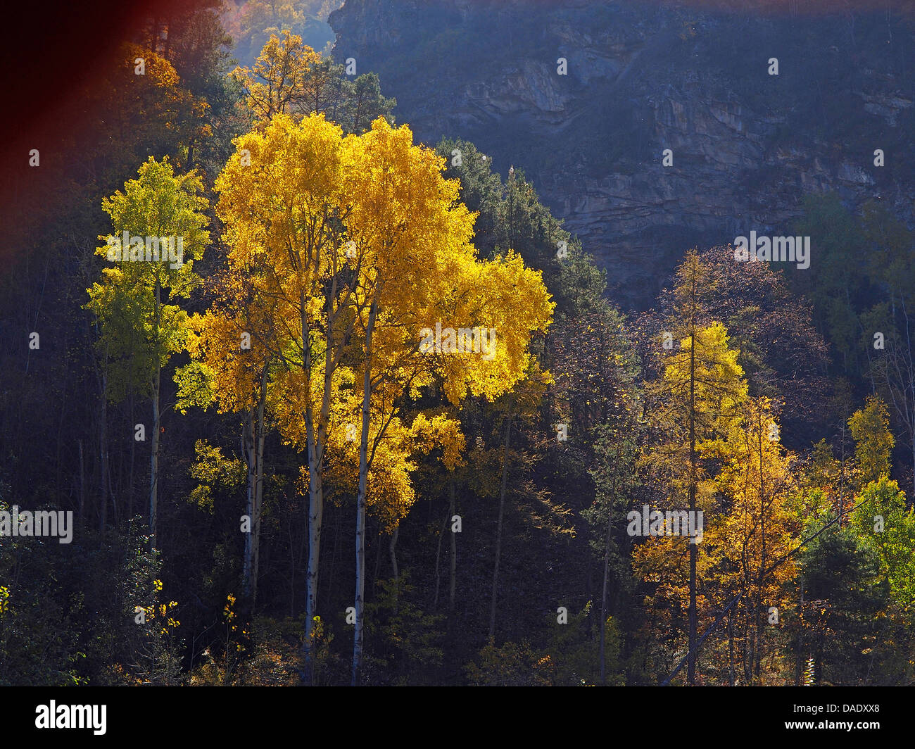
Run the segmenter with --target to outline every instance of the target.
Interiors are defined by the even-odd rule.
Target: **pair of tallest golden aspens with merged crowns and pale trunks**
[[[505,392],[527,367],[532,331],[544,330],[552,312],[540,274],[520,257],[476,259],[474,217],[458,202],[457,183],[442,178],[443,159],[412,140],[383,118],[363,136],[343,137],[322,115],[296,123],[274,114],[236,140],[217,180],[230,265],[250,277],[255,303],[271,310],[264,346],[278,364],[269,407],[285,439],[307,450],[307,682],[323,482],[328,460],[346,452],[330,448],[342,447],[347,409],[361,410],[355,673],[368,498],[392,523],[412,504],[416,446],[406,449],[404,430],[414,442],[424,433],[459,442],[457,425],[441,415],[432,426],[414,417],[407,428],[404,407],[435,376],[454,404],[468,392],[490,399]],[[443,326],[468,332],[468,349],[425,345]],[[446,355],[458,348],[465,355]],[[370,485],[376,460],[384,470]]]

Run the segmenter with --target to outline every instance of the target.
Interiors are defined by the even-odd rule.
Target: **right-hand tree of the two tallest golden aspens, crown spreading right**
[[[433,374],[457,405],[468,392],[492,400],[519,382],[533,331],[552,315],[540,273],[511,251],[488,262],[470,243],[474,216],[444,159],[413,145],[409,128],[382,117],[349,136],[344,192],[346,235],[356,255],[357,335],[362,346],[361,435],[356,531],[356,632],[352,683],[362,654],[364,535],[373,394],[409,398]],[[444,331],[444,336],[443,336]],[[497,338],[498,336],[498,338]]]

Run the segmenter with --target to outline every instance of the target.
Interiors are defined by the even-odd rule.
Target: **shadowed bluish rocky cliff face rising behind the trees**
[[[910,16],[719,5],[347,0],[329,23],[399,122],[522,168],[640,308],[690,246],[792,233],[807,194],[913,221]]]

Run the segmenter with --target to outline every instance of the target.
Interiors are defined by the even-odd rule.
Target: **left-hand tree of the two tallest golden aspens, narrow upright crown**
[[[267,312],[264,346],[276,360],[274,418],[285,440],[307,452],[308,561],[305,671],[312,678],[318,561],[324,495],[322,470],[331,400],[355,315],[344,246],[343,139],[323,115],[296,123],[276,114],[237,138],[216,182],[232,268],[247,275],[253,303]]]

